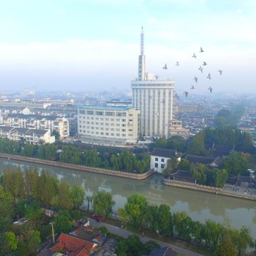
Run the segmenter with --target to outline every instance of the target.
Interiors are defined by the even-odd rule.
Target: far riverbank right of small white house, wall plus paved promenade
[[[219,187],[208,187],[200,184],[192,184],[184,181],[173,181],[167,178],[164,178],[163,184],[170,187],[180,187],[183,189],[192,189],[196,191],[208,192],[216,195],[226,195],[229,197],[238,197],[247,200],[255,200],[256,201],[256,189],[252,189],[249,192],[248,188],[239,189],[231,189],[229,185],[225,185],[222,189]],[[247,190],[246,190],[247,189]]]

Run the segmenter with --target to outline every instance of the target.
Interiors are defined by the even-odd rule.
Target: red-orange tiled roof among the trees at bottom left
[[[94,243],[63,233],[59,236],[57,244],[50,248],[52,252],[69,252],[70,256],[89,256],[93,249]]]

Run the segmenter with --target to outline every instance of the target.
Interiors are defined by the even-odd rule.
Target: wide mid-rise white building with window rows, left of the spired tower
[[[138,141],[140,111],[131,107],[78,107],[78,135],[82,142],[134,145]]]

